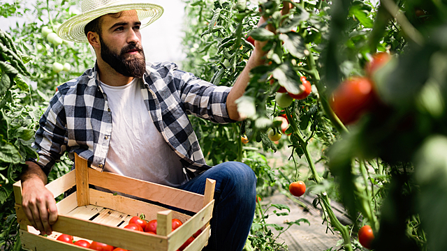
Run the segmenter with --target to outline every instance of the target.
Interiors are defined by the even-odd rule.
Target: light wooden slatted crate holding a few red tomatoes
[[[210,219],[214,206],[215,181],[207,179],[205,195],[186,192],[166,185],[158,185],[135,178],[98,172],[87,167],[87,160],[75,155],[75,170],[48,183],[46,188],[54,197],[76,185],[76,192],[57,203],[58,218],[52,225],[53,234],[45,237],[24,214],[22,208],[22,185],[14,184],[15,211],[20,224],[22,248],[27,250],[89,250],[57,241],[61,233],[87,240],[107,243],[133,251],[175,251],[198,229],[202,233],[185,249],[199,251],[210,238]],[[193,216],[168,210],[129,197],[112,195],[89,188],[89,184],[133,195],[163,205],[173,206],[195,213]],[[157,220],[157,234],[124,229],[132,216],[144,213],[147,220]],[[183,225],[171,231],[171,219],[177,218]]]

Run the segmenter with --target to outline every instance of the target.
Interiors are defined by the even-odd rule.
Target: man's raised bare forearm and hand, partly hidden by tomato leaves
[[[292,3],[283,2],[284,7],[281,10],[282,15],[286,15],[288,11],[292,8]],[[268,20],[268,17],[261,17],[261,19],[258,22],[258,27],[264,24]],[[272,31],[273,33],[276,33],[274,30],[274,27],[272,25],[268,25],[265,27],[265,29],[268,29],[269,31]],[[267,52],[263,51],[263,47],[267,41],[254,41],[254,52],[251,53],[250,59],[247,62],[247,65],[245,66],[244,70],[242,70],[242,73],[239,77],[237,77],[237,80],[233,86],[233,89],[231,89],[230,93],[228,94],[228,97],[226,98],[226,109],[228,111],[228,116],[230,116],[230,119],[233,120],[240,120],[239,112],[237,112],[237,104],[236,100],[242,95],[244,95],[245,89],[247,88],[247,85],[250,81],[249,73],[251,69],[255,68],[256,66],[260,66],[263,63],[265,63],[265,54]]]

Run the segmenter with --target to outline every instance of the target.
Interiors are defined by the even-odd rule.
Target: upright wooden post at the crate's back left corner
[[[87,160],[80,158],[78,154],[75,153],[76,192],[78,196],[78,206],[87,206],[90,204],[88,169],[89,167]]]

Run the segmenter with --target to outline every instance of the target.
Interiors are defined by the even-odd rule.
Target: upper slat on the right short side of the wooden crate
[[[214,207],[214,199],[207,204],[201,211],[193,215],[191,219],[184,222],[182,226],[178,227],[173,231],[172,234],[168,235],[168,243],[169,249],[168,251],[175,251],[179,248],[183,243],[191,237],[193,234],[201,229],[203,226],[210,222],[212,218],[212,210]],[[158,225],[157,225],[158,227]],[[209,227],[209,226],[207,226]],[[159,230],[157,229],[157,234]]]

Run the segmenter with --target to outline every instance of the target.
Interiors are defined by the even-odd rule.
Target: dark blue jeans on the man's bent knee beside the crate
[[[193,178],[179,189],[204,194],[205,181],[216,181],[211,236],[207,248],[239,251],[247,241],[256,207],[256,176],[240,162],[224,162]]]

